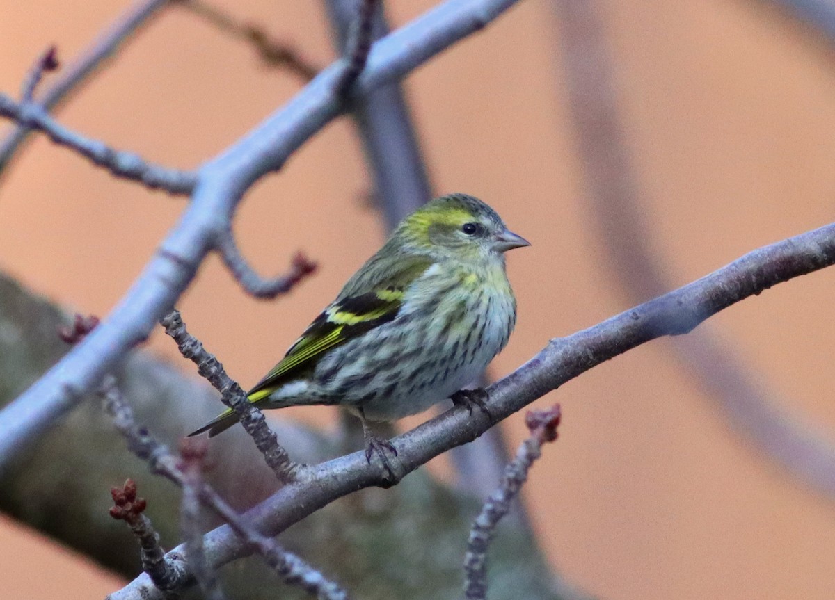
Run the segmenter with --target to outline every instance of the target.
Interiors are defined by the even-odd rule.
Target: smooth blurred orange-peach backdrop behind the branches
[[[321,3],[212,3],[293,43],[311,63],[334,58]],[[394,26],[433,4],[389,2],[387,13]],[[0,89],[16,95],[50,43],[71,61],[126,6],[0,1]],[[832,220],[831,40],[777,3],[757,0],[599,6],[638,200],[626,209],[637,224],[625,239],[646,246],[665,286]],[[612,230],[617,219],[601,218],[592,199],[598,175],[586,176],[578,150],[576,80],[567,75],[578,55],[569,53],[576,47],[563,18],[550,0],[520,2],[404,83],[438,194],[477,195],[533,243],[509,255],[519,323],[493,377],[513,371],[550,337],[650,297],[624,285],[638,267],[613,258],[610,242],[624,232]],[[300,86],[246,43],[174,7],[59,115],[116,148],[193,168]],[[341,118],[241,204],[235,234],[262,274],[286,270],[300,249],[320,265],[315,277],[271,302],[245,295],[213,258],[180,301],[190,330],[243,386],[260,379],[381,244],[371,189],[355,129]],[[70,310],[106,315],[184,204],[34,139],[0,188],[0,270]],[[835,270],[792,280],[700,330],[721,340],[788,418],[828,432],[835,444],[833,285]],[[155,335],[150,350],[190,373],[163,338]],[[525,488],[549,560],[570,582],[613,600],[831,598],[832,496],[792,476],[732,426],[709,389],[715,382],[694,375],[677,346],[651,342],[536,403],[559,401],[564,416],[559,441]],[[281,416],[323,426],[333,420],[326,408]],[[505,427],[512,446],[526,436],[522,415]],[[27,560],[7,567],[20,556]],[[0,596],[9,598],[54,597],[58,589],[67,598],[100,597],[124,585],[5,517],[0,565]]]

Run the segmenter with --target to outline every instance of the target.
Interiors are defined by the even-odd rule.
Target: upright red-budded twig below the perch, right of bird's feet
[[[557,439],[559,419],[559,404],[547,411],[528,411],[525,416],[525,425],[531,435],[519,446],[516,457],[504,470],[501,486],[484,502],[470,529],[464,556],[464,597],[467,600],[487,597],[487,549],[496,526],[508,514],[510,502],[528,480],[530,467],[542,456],[542,445]]]

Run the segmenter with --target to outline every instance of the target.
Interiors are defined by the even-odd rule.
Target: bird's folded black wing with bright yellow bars
[[[376,258],[369,260],[366,267],[373,266]],[[394,319],[408,285],[432,265],[431,260],[423,257],[407,257],[399,262],[394,270],[377,270],[376,276],[374,269],[369,276],[364,267],[362,281],[356,276],[349,280],[337,300],[313,320],[281,362],[249,391],[250,401],[270,396],[287,381],[316,366],[327,350]]]

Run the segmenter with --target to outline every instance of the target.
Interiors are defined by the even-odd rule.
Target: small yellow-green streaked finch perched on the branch
[[[397,225],[272,371],[248,393],[259,408],[339,405],[362,421],[366,457],[381,446],[370,421],[395,421],[444,398],[483,406],[461,391],[508,343],[516,299],[504,252],[529,245],[481,200],[434,199]],[[473,392],[480,392],[473,393]],[[190,435],[215,436],[227,410]]]

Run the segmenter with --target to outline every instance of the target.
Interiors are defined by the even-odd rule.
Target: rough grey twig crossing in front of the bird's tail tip
[[[267,426],[261,411],[246,399],[245,392],[237,382],[226,375],[220,361],[205,350],[200,340],[185,329],[180,312],[173,310],[159,322],[165,328],[165,333],[177,342],[180,354],[195,363],[200,376],[205,377],[215,390],[220,391],[220,401],[235,411],[240,424],[255,441],[266,464],[276,474],[278,481],[282,483],[293,481],[299,466],[290,460],[287,451],[278,443],[276,432]]]

